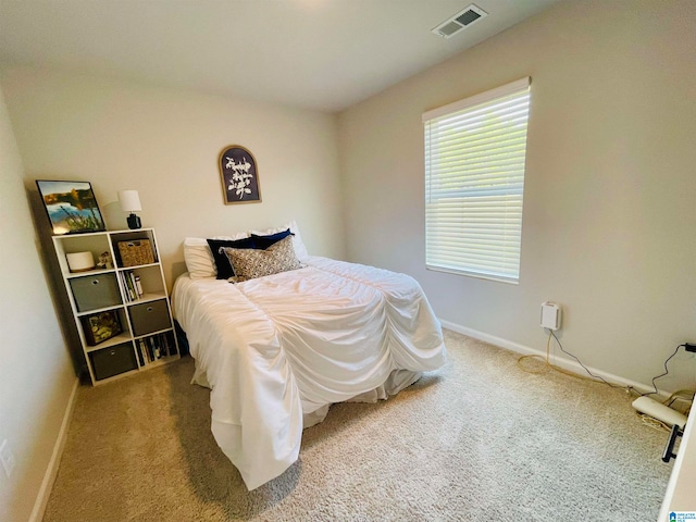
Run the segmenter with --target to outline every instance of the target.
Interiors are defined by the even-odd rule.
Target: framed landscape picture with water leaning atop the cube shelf
[[[80,234],[105,231],[97,198],[88,182],[37,179],[53,234]]]

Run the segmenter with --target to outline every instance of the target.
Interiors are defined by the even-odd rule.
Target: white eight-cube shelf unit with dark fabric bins
[[[152,259],[140,264],[122,259],[119,244],[148,240]],[[94,385],[103,384],[179,358],[172,309],[153,228],[53,236],[55,256],[67,293],[82,350]],[[112,266],[71,272],[67,253],[89,251],[96,262],[109,253]],[[129,287],[138,278],[141,294]],[[98,318],[98,319],[97,319]],[[90,337],[91,322],[116,318],[120,333],[100,343]],[[113,324],[113,323],[112,323]],[[97,327],[97,326],[95,326]],[[113,332],[114,328],[111,328]]]

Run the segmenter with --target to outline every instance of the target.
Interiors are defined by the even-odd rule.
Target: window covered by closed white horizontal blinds
[[[518,283],[530,78],[423,114],[425,263]]]

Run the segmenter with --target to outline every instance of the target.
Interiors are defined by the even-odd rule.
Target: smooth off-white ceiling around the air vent
[[[336,112],[558,0],[0,0],[0,61]]]

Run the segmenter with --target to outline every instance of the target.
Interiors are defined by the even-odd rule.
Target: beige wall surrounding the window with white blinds
[[[641,383],[696,341],[696,10],[571,1],[339,116],[351,261],[415,276],[436,313],[538,350],[545,300],[563,347]],[[421,114],[532,76],[518,286],[424,268]],[[672,360],[666,389],[693,388]]]

